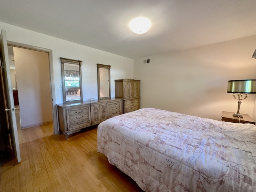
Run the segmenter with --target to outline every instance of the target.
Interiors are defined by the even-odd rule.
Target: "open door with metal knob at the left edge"
[[[18,131],[16,124],[16,116],[15,116],[15,107],[14,100],[12,94],[12,83],[10,77],[10,66],[9,66],[9,58],[8,58],[8,47],[6,40],[6,31],[1,31],[0,36],[0,64],[1,64],[1,81],[4,92],[4,101],[5,101],[5,111],[6,111],[6,121],[7,125],[11,131],[10,143],[11,147],[14,150],[17,161],[20,162],[20,145],[18,140]]]

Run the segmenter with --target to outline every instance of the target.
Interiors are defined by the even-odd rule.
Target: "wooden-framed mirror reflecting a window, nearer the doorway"
[[[63,102],[82,101],[82,61],[60,58]]]

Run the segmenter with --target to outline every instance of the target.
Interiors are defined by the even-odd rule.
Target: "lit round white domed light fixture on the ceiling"
[[[143,34],[151,27],[151,21],[145,17],[136,17],[130,21],[129,27],[132,32],[136,34]]]

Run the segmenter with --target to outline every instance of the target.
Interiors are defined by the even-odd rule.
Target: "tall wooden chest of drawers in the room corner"
[[[140,109],[140,80],[115,80],[115,96],[124,99],[124,113]]]

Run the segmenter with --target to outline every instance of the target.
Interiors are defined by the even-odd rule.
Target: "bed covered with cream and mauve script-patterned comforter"
[[[98,152],[146,192],[256,192],[256,126],[143,108],[102,122]]]

